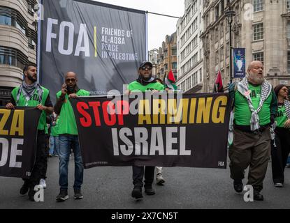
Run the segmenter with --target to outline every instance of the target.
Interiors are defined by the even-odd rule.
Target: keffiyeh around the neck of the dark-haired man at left
[[[37,91],[38,94],[38,98],[39,98],[39,102],[41,102],[42,100],[42,96],[43,96],[43,89],[41,88],[41,85],[38,84],[37,82],[34,82],[34,84],[26,84],[25,82],[22,82],[18,92],[17,92],[17,96],[16,96],[16,103],[18,103],[19,99],[20,99],[20,95],[21,93],[23,94],[25,100],[26,100],[26,105],[28,104],[28,101],[32,98],[32,96],[34,95],[34,91]]]

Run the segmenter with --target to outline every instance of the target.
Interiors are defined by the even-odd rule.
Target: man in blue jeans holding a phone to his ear
[[[61,91],[57,92],[57,103],[55,113],[59,115],[59,185],[60,192],[57,202],[68,199],[68,161],[73,148],[75,155],[75,183],[73,190],[74,199],[82,199],[83,165],[78,142],[78,129],[75,122],[75,115],[71,107],[70,98],[89,95],[88,91],[78,88],[78,78],[74,72],[67,72],[65,84],[61,86]]]

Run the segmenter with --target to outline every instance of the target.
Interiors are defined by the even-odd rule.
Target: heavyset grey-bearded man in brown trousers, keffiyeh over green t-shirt
[[[270,125],[275,121],[277,98],[263,77],[263,63],[253,61],[247,77],[229,88],[233,98],[233,144],[229,148],[231,178],[236,192],[242,192],[242,179],[249,167],[247,185],[254,188],[254,200],[263,201],[263,189],[270,159]]]

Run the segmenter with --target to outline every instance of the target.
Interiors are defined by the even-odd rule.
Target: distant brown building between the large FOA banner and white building
[[[162,47],[159,47],[157,56],[157,75],[160,79],[164,79],[168,72],[173,71],[175,79],[177,78],[177,46],[176,46],[176,32],[171,36],[166,36]]]

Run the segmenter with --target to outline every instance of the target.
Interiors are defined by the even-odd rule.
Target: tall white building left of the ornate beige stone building
[[[177,21],[177,86],[184,93],[203,89],[202,1],[185,0],[184,15]]]

